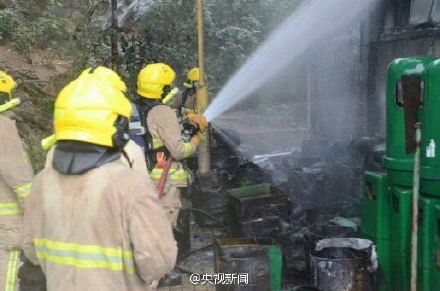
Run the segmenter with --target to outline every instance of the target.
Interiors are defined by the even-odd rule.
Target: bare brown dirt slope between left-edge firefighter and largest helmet
[[[67,83],[65,73],[70,67],[69,61],[53,59],[47,52],[37,50],[29,63],[11,46],[0,46],[0,70],[17,82],[15,95],[22,104],[13,110],[14,119],[36,172],[42,168],[46,154],[40,146],[41,139],[52,132],[53,101]]]

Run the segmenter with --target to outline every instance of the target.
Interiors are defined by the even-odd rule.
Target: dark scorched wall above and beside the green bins
[[[409,1],[406,1],[409,2]],[[368,133],[384,136],[387,66],[395,58],[417,55],[440,56],[438,24],[411,27],[409,8],[403,1],[381,1],[370,19],[370,65]]]

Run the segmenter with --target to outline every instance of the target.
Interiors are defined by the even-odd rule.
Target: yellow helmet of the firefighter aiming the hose
[[[160,99],[168,94],[175,78],[176,73],[166,64],[147,65],[139,72],[137,93],[145,98]]]

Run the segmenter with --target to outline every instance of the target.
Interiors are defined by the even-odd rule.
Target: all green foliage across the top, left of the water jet
[[[301,0],[205,0],[205,58],[215,92]],[[130,1],[129,1],[130,2]],[[165,62],[178,81],[197,65],[195,0],[156,0],[120,29],[120,72],[135,85],[146,63]],[[74,72],[109,65],[109,0],[12,1],[0,10],[0,38],[31,59],[34,49],[70,58]],[[124,4],[124,1],[120,1]],[[75,15],[75,16],[72,16]]]

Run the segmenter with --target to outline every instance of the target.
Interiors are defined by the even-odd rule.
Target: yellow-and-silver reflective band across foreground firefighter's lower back
[[[102,268],[127,273],[135,271],[132,251],[48,239],[34,239],[33,242],[40,260],[76,268]]]

